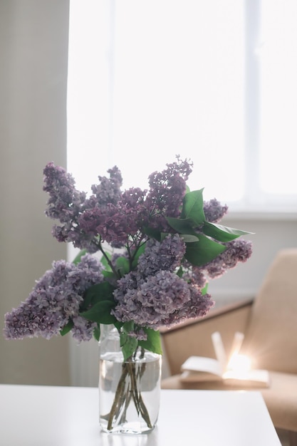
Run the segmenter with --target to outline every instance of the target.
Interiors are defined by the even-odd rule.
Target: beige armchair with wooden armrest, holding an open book
[[[269,370],[270,386],[260,391],[273,424],[290,431],[290,445],[297,445],[297,249],[278,252],[254,300],[162,330],[171,373],[162,380],[162,388],[226,389],[224,383],[180,380],[180,366],[189,356],[215,358],[214,331],[221,333],[227,353],[235,331],[244,333],[241,353],[249,354],[256,368]]]

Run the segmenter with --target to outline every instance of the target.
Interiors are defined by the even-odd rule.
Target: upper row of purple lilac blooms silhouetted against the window
[[[100,183],[92,186],[93,195],[87,199],[75,189],[73,177],[50,162],[44,170],[43,190],[50,195],[46,214],[61,222],[53,227],[53,236],[95,253],[98,239],[123,247],[148,224],[171,231],[165,217],[179,215],[191,171],[189,162],[178,157],[167,169],[150,175],[148,192],[138,187],[121,192],[123,180],[115,166],[108,170],[110,178],[98,177]]]

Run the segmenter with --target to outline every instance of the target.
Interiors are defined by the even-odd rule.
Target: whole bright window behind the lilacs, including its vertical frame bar
[[[297,204],[294,0],[71,0],[68,169],[124,187],[175,155],[230,210]]]

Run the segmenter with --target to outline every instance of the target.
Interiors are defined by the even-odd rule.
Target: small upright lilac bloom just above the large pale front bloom
[[[160,269],[173,272],[180,266],[185,251],[186,244],[179,234],[169,234],[162,242],[150,239],[138,259],[137,271],[143,276],[151,276]]]

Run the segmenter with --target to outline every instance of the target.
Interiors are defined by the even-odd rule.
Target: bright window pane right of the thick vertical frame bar
[[[296,195],[297,2],[262,0],[261,16],[261,188]]]

